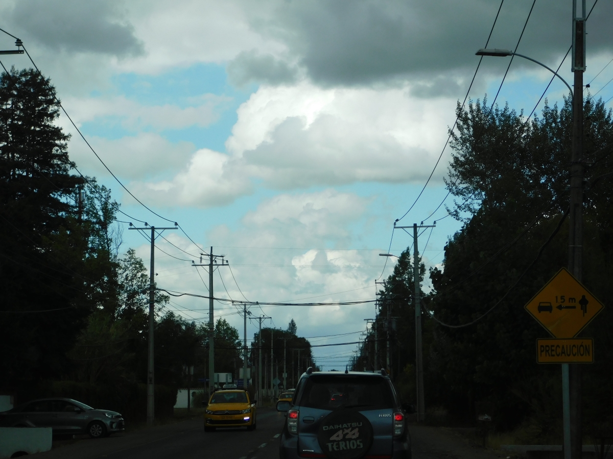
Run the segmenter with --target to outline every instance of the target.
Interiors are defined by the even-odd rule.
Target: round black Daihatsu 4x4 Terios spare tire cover
[[[356,409],[337,409],[322,419],[319,446],[332,459],[358,459],[373,444],[373,427]]]

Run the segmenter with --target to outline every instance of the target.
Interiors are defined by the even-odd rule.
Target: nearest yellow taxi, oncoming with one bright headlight
[[[256,404],[249,399],[246,390],[230,389],[213,392],[204,414],[204,431],[217,427],[256,428]]]

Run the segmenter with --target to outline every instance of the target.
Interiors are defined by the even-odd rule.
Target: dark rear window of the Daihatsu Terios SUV
[[[300,406],[319,409],[394,408],[388,381],[376,376],[317,375],[307,379]]]

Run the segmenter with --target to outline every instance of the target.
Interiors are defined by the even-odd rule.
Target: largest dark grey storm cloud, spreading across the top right
[[[503,4],[489,47],[514,48],[531,4]],[[254,27],[286,43],[316,83],[372,84],[474,69],[474,53],[485,45],[499,5],[498,0],[287,1],[272,20],[254,21]],[[612,2],[596,6],[588,23],[589,52],[610,50],[612,17]],[[518,52],[552,63],[570,43],[571,0],[538,0]]]

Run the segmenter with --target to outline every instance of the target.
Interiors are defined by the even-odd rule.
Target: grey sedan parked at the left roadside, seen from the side
[[[0,426],[51,427],[54,434],[87,433],[101,438],[123,431],[124,420],[118,412],[94,409],[71,398],[42,398],[0,412]]]

